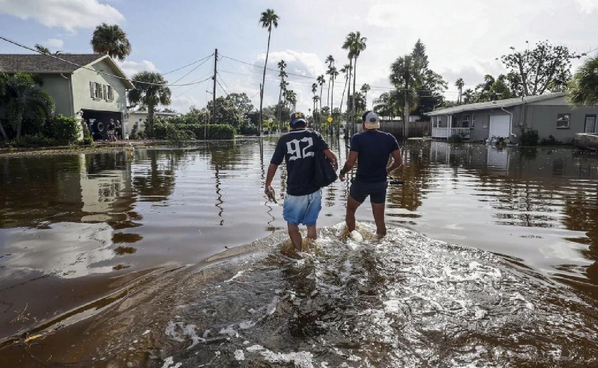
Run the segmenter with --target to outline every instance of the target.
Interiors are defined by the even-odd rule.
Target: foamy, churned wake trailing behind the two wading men
[[[595,306],[566,287],[413,231],[343,231],[185,292],[162,367],[598,364]]]

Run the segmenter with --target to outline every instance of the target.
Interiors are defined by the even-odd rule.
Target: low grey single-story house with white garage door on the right
[[[508,98],[438,109],[431,117],[432,138],[461,135],[472,141],[499,137],[518,143],[523,129],[535,129],[540,140],[550,135],[572,143],[575,134],[598,132],[598,106],[572,107],[565,92]]]

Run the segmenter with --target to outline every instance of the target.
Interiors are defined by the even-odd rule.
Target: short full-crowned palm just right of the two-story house
[[[158,104],[170,104],[170,88],[164,86],[167,81],[160,73],[139,72],[133,75],[133,86],[135,88],[129,91],[127,97],[129,103],[136,106],[143,104],[148,108],[148,120],[145,125],[145,131],[151,137],[154,129],[154,112]]]

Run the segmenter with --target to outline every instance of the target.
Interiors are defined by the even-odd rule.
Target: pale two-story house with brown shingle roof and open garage
[[[70,63],[43,54],[0,54],[0,72],[41,76],[41,89],[54,98],[56,114],[83,119],[94,138],[107,139],[110,119],[124,120],[127,89],[133,84],[108,55],[56,56]]]

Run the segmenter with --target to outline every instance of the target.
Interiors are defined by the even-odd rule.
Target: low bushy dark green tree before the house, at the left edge
[[[54,115],[54,100],[47,92],[41,91],[39,86],[41,79],[37,76],[0,73],[0,107],[10,119],[17,139],[21,138],[24,117],[47,119]],[[4,126],[0,126],[0,131],[2,138],[8,140]]]

